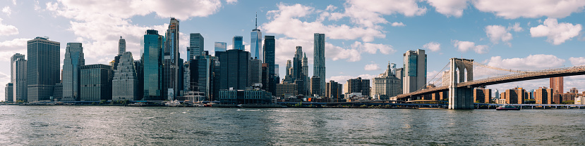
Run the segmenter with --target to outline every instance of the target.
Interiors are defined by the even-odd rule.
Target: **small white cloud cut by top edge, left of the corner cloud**
[[[463,15],[463,10],[467,8],[468,0],[427,0],[430,6],[435,7],[435,11],[443,15],[455,16],[457,18]]]

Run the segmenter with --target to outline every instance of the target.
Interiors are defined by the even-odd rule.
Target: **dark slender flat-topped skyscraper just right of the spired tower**
[[[278,71],[275,65],[275,48],[276,48],[276,40],[275,36],[265,36],[264,38],[264,58],[263,61],[268,64],[268,84],[263,85],[267,86],[267,91],[272,93],[272,95],[276,95],[276,84],[278,80],[276,79]]]

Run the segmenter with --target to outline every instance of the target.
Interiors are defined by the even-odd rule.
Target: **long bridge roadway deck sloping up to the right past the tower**
[[[576,76],[576,75],[583,75],[585,74],[585,65],[577,66],[577,67],[565,67],[565,68],[558,68],[558,69],[545,69],[537,72],[524,72],[519,74],[509,74],[505,76],[499,77],[491,77],[486,79],[479,79],[474,81],[466,81],[457,84],[457,88],[474,88],[478,86],[488,86],[493,84],[502,84],[502,83],[509,83],[514,81],[527,81],[532,79],[546,79],[551,77],[566,77],[566,76]],[[438,86],[435,88],[426,88],[420,91],[414,91],[411,93],[406,94],[399,94],[397,95],[397,100],[416,97],[421,95],[426,95],[430,93],[438,93],[443,91],[448,91],[448,86]]]

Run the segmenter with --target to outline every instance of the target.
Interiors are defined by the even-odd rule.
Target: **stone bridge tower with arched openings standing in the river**
[[[471,87],[457,87],[457,83],[474,80],[474,60],[451,58],[449,80],[449,109],[471,110],[474,109],[474,91]],[[456,72],[459,71],[459,72]],[[467,74],[465,74],[467,71]],[[459,77],[459,79],[457,79]]]

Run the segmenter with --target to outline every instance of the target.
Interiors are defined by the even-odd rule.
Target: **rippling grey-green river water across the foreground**
[[[2,105],[0,145],[585,145],[585,110]]]

